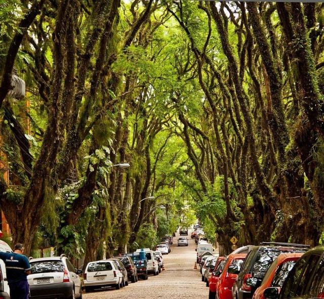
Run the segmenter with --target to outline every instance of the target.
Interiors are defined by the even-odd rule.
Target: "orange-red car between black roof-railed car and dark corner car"
[[[257,288],[253,294],[252,299],[265,299],[263,292],[267,287],[281,287],[284,281],[286,280],[288,273],[292,270],[293,266],[296,263],[296,260],[299,259],[303,253],[281,253],[273,261],[270,268],[266,272],[261,286]],[[250,278],[251,284],[256,283],[253,278]],[[249,280],[247,281],[249,283]]]

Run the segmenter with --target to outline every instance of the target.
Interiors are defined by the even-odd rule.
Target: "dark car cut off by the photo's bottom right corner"
[[[296,261],[281,290],[279,287],[268,287],[263,295],[269,299],[323,298],[324,246],[308,250]]]

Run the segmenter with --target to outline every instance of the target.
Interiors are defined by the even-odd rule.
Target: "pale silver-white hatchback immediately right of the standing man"
[[[27,276],[30,298],[82,298],[79,274],[65,254],[29,258],[31,274]]]

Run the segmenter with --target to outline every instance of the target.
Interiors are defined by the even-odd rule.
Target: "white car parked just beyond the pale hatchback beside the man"
[[[123,273],[119,271],[114,260],[90,261],[84,273],[84,284],[86,292],[108,286],[118,290],[123,286]]]

